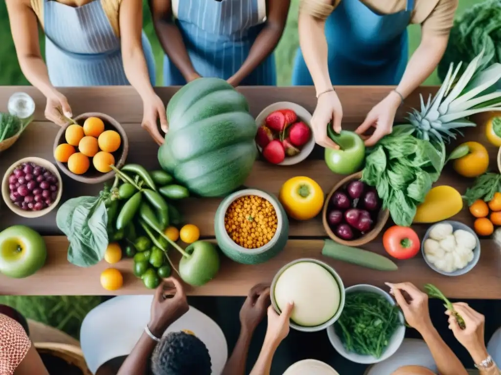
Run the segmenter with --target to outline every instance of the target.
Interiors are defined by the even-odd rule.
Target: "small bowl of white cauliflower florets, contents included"
[[[446,220],[428,228],[421,252],[426,263],[438,273],[459,276],[478,262],[480,241],[468,225]]]

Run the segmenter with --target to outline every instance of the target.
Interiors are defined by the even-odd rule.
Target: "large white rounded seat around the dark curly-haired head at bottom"
[[[80,328],[80,345],[89,370],[95,374],[110,359],[128,355],[150,319],[153,295],[111,298],[90,311]],[[219,375],[228,357],[224,334],[217,323],[194,307],[164,333],[189,330],[207,346],[212,373]]]

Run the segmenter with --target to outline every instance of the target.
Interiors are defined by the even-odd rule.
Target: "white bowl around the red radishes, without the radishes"
[[[256,126],[259,128],[261,125],[265,123],[266,117],[272,112],[280,109],[292,109],[298,115],[298,120],[302,120],[305,122],[311,130],[311,120],[312,114],[308,112],[304,107],[299,104],[292,103],[290,101],[279,101],[277,103],[273,103],[268,105],[265,109],[258,114],[256,117]],[[310,153],[312,153],[313,148],[315,147],[315,139],[313,138],[313,131],[310,137],[310,140],[303,146],[301,152],[295,156],[286,156],[285,160],[277,165],[293,165],[297,164],[308,157]],[[263,149],[258,146],[259,152],[263,152]]]

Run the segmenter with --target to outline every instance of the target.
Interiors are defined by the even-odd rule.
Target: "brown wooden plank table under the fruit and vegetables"
[[[371,107],[381,100],[390,87],[339,87],[338,94],[343,103],[343,127],[355,128],[360,124]],[[176,87],[157,88],[156,91],[165,103],[168,102]],[[264,107],[276,101],[294,101],[313,112],[316,98],[312,87],[242,87],[239,90],[247,97],[251,112],[256,116]],[[27,128],[21,139],[10,149],[0,154],[0,176],[16,160],[26,156],[44,157],[54,162],[53,142],[58,126],[44,117],[45,98],[33,87],[0,87],[0,110],[5,111],[7,100],[16,91],[29,93],[36,102],[35,121]],[[419,107],[421,92],[424,97],[434,93],[436,87],[421,87],[406,100],[406,105],[399,109],[396,122],[403,122],[409,107]],[[83,112],[98,111],[107,113],[122,123],[129,137],[128,162],[141,163],[147,168],[157,168],[158,147],[146,131],[141,129],[142,102],[131,87],[83,87],[65,88],[62,92],[68,97],[75,115]],[[482,120],[482,117],[477,117]],[[471,129],[466,134],[468,140],[478,140],[488,144],[483,128]],[[492,169],[495,169],[497,150],[489,147]],[[294,166],[275,166],[264,161],[256,161],[254,169],[245,181],[247,186],[256,187],[278,194],[282,183],[293,176],[306,175],[315,179],[325,193],[342,178],[333,174],[323,161],[323,152],[316,149],[308,160]],[[94,195],[101,185],[78,183],[65,174],[63,176],[63,199],[79,195]],[[472,180],[455,174],[445,168],[438,184],[449,184],[463,193]],[[214,213],[221,199],[189,198],[183,200],[182,211],[187,222],[200,227],[205,239],[214,237]],[[45,235],[48,246],[46,265],[36,274],[25,279],[11,279],[0,275],[0,294],[145,294],[142,281],[132,274],[132,261],[122,260],[116,267],[123,271],[124,286],[114,292],[103,289],[99,275],[108,263],[80,268],[67,261],[68,240],[61,235],[55,222],[56,210],[38,219],[25,219],[15,215],[2,202],[0,209],[0,230],[13,224],[26,224]],[[464,208],[454,219],[472,224],[472,218]],[[418,234],[424,234],[427,225],[415,225]],[[501,251],[491,239],[482,239],[480,260],[469,273],[458,277],[440,275],[429,268],[421,255],[413,259],[399,261],[398,271],[383,272],[359,267],[353,264],[335,261],[321,255],[323,239],[326,233],[320,217],[309,221],[291,220],[290,239],[281,254],[270,261],[258,265],[243,265],[221,256],[221,269],[217,277],[198,288],[188,288],[191,295],[246,295],[248,289],[258,282],[270,282],[277,270],[287,262],[300,257],[315,257],[332,264],[340,273],[346,286],[356,283],[371,283],[384,286],[384,281],[411,281],[418,286],[431,282],[437,285],[449,297],[456,298],[501,298],[499,277],[501,276]],[[364,248],[385,254],[381,236]]]

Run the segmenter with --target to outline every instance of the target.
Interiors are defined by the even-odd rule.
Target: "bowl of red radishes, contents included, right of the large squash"
[[[256,117],[256,144],[263,157],[278,165],[306,159],[315,147],[311,119],[310,112],[290,101],[268,105]]]

